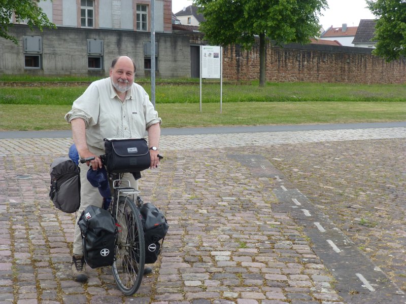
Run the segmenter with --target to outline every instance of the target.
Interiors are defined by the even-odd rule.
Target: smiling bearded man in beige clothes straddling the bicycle
[[[90,165],[93,170],[103,167],[99,156],[105,154],[104,139],[144,138],[147,131],[150,168],[158,167],[161,119],[148,94],[134,83],[135,72],[136,65],[131,58],[115,58],[110,67],[110,77],[90,84],[74,101],[72,110],[65,115],[65,120],[72,126],[72,137],[80,158],[94,157],[90,162],[79,164],[81,201],[75,222],[71,267],[72,277],[77,282],[86,282],[88,279],[77,221],[87,206],[101,208],[103,205],[98,188],[87,180],[87,171]],[[131,187],[138,189],[138,180],[131,173],[124,173],[123,179],[129,180]],[[151,268],[146,268],[144,274],[151,271]]]

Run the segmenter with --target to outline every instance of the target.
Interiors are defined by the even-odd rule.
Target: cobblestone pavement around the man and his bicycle
[[[87,284],[69,277],[74,214],[55,209],[48,189],[49,165],[71,143],[0,139],[0,303],[406,302],[406,128],[162,136],[165,158],[140,189],[170,231],[154,275],[131,297],[109,268],[88,269]],[[342,266],[323,252],[350,247],[329,239],[321,248],[295,206],[284,207],[285,190],[383,279],[357,273],[341,290]]]

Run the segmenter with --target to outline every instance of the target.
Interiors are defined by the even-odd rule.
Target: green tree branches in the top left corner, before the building
[[[12,24],[13,13],[17,22],[26,23],[32,30],[37,26],[41,31],[44,26],[55,25],[49,21],[47,15],[38,6],[41,0],[0,0],[0,37],[13,41],[18,45],[16,37],[8,33]]]

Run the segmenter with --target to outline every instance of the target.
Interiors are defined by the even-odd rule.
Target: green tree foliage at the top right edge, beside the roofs
[[[373,40],[377,41],[373,54],[386,61],[406,56],[406,1],[367,1],[369,10],[377,17]]]

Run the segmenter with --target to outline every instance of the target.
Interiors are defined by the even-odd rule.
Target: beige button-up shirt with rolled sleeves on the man
[[[74,101],[65,120],[70,123],[77,118],[85,121],[89,149],[101,150],[104,150],[104,138],[143,138],[151,125],[161,123],[143,87],[132,84],[122,102],[110,77],[93,82]]]

